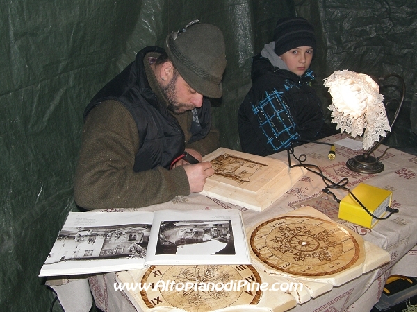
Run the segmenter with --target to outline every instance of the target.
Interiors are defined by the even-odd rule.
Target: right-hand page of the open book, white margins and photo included
[[[240,211],[156,211],[146,263],[250,264]]]

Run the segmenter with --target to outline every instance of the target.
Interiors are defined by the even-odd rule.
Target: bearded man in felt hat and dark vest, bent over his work
[[[194,21],[148,46],[85,108],[74,199],[85,209],[144,207],[202,191],[218,148],[210,101],[226,67],[219,28]]]

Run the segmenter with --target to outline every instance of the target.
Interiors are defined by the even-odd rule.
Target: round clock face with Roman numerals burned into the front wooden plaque
[[[248,284],[238,287],[239,281]],[[148,308],[172,306],[189,312],[213,311],[257,304],[261,299],[261,291],[252,286],[260,285],[261,277],[253,266],[246,265],[151,266],[142,277],[142,284],[145,283],[153,285],[140,292]],[[157,284],[159,287],[155,287]],[[162,288],[163,285],[167,287]]]

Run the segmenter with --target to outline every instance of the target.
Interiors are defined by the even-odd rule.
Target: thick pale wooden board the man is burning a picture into
[[[300,167],[270,157],[218,148],[203,158],[215,174],[207,178],[201,192],[225,202],[263,211],[302,177]]]

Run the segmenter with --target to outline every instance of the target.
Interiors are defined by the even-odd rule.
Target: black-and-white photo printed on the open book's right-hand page
[[[156,254],[236,254],[231,221],[163,221]]]

